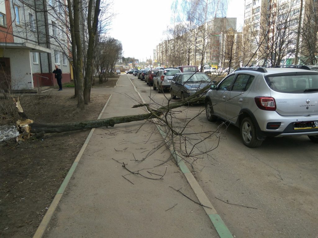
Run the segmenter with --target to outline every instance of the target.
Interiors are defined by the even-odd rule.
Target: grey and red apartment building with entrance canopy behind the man
[[[54,64],[70,82],[66,5],[55,0],[0,0],[0,88],[56,85]]]

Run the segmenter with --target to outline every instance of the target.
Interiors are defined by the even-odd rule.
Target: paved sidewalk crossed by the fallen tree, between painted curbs
[[[131,108],[141,99],[125,75],[92,94],[111,94],[101,118],[145,113]],[[92,129],[34,237],[219,237],[204,208],[173,189],[198,201],[162,142],[145,121]]]

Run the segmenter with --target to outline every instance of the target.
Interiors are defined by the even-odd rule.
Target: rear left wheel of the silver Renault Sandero
[[[263,141],[257,139],[256,126],[250,117],[245,117],[240,125],[240,134],[245,146],[259,147]]]

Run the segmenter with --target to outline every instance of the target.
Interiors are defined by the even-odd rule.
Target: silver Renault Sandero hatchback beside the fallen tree
[[[318,142],[318,72],[309,67],[239,68],[205,98],[209,121],[240,128],[243,143],[258,147],[267,136],[307,135]]]

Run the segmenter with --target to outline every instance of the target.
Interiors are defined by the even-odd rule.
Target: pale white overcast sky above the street
[[[227,17],[237,17],[237,27],[243,25],[244,0],[228,0]],[[114,0],[116,17],[112,21],[109,36],[120,40],[123,56],[146,61],[153,59],[153,49],[166,39],[173,0],[118,1]]]

